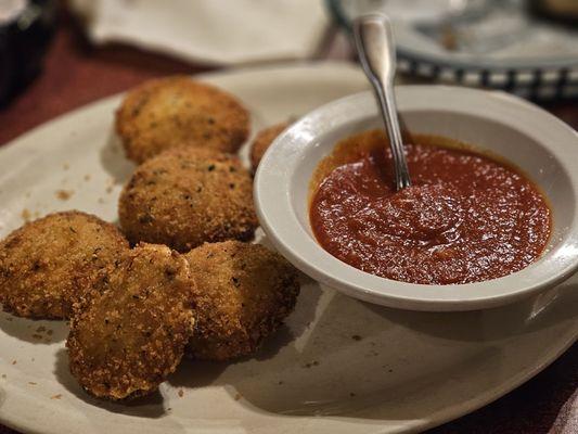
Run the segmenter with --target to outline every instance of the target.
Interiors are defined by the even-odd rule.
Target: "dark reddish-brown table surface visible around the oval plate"
[[[350,56],[343,47],[330,48],[320,55]],[[129,47],[92,48],[63,16],[42,73],[0,111],[0,144],[56,115],[147,78],[206,71],[210,69]],[[550,103],[544,108],[578,129],[578,102]],[[0,425],[0,434],[9,433],[15,432]],[[578,433],[578,344],[506,396],[429,433]]]

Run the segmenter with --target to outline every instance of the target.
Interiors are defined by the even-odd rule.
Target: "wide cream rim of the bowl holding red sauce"
[[[292,174],[303,163],[299,149],[347,123],[377,115],[370,91],[330,102],[283,131],[259,163],[254,199],[261,228],[295,267],[352,297],[411,310],[474,310],[515,302],[569,278],[578,269],[578,133],[547,111],[501,91],[451,86],[396,87],[398,110],[461,112],[515,128],[541,143],[569,178],[575,196],[567,234],[540,259],[514,273],[483,282],[428,285],[361,271],[335,258],[307,233],[291,199]],[[555,143],[555,144],[554,144]]]

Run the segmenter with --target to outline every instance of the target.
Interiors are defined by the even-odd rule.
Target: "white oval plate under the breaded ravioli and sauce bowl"
[[[357,69],[341,64],[201,78],[237,94],[255,130],[367,88]],[[0,235],[22,224],[25,209],[34,217],[78,208],[116,220],[132,169],[112,132],[119,99],[0,150]],[[59,199],[59,190],[70,197]],[[0,422],[54,434],[421,431],[502,396],[570,346],[577,285],[573,278],[500,309],[427,314],[364,304],[306,280],[286,327],[255,358],[184,361],[159,393],[129,405],[81,391],[68,372],[64,323],[0,314]]]

